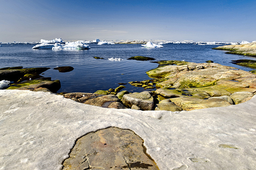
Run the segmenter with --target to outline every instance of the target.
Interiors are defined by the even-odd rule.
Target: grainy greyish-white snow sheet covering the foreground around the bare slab
[[[193,111],[116,110],[45,92],[0,90],[0,169],[61,169],[77,138],[131,129],[161,170],[255,169],[256,97]]]

